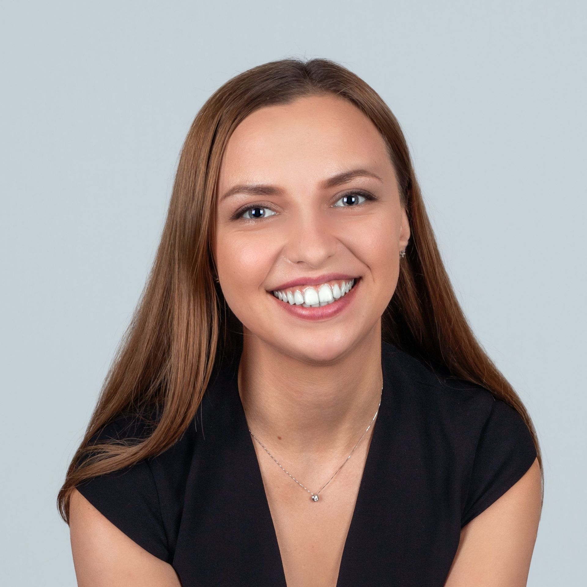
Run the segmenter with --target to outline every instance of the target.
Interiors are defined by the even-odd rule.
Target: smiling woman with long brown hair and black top
[[[204,104],[58,503],[80,585],[525,585],[537,436],[359,77],[285,59]]]

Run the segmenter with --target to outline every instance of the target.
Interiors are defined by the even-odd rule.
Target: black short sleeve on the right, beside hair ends
[[[475,451],[461,528],[521,479],[536,456],[534,440],[522,417],[496,399]]]

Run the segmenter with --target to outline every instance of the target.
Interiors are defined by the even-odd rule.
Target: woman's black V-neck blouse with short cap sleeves
[[[170,563],[183,587],[286,586],[238,394],[237,354],[215,369],[174,446],[77,487]],[[517,411],[487,389],[441,377],[386,342],[382,369],[380,411],[336,585],[442,586],[461,528],[512,487],[537,453]],[[121,416],[94,440],[140,435],[141,425]]]

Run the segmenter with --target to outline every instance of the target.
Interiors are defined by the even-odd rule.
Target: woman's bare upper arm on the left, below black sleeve
[[[181,587],[170,564],[127,537],[77,490],[69,517],[79,587]]]

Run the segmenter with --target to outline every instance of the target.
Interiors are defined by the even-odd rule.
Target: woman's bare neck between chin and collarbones
[[[327,460],[350,452],[369,424],[372,433],[383,382],[380,331],[323,365],[250,334],[244,341],[238,389],[248,427],[265,446],[292,459]]]

